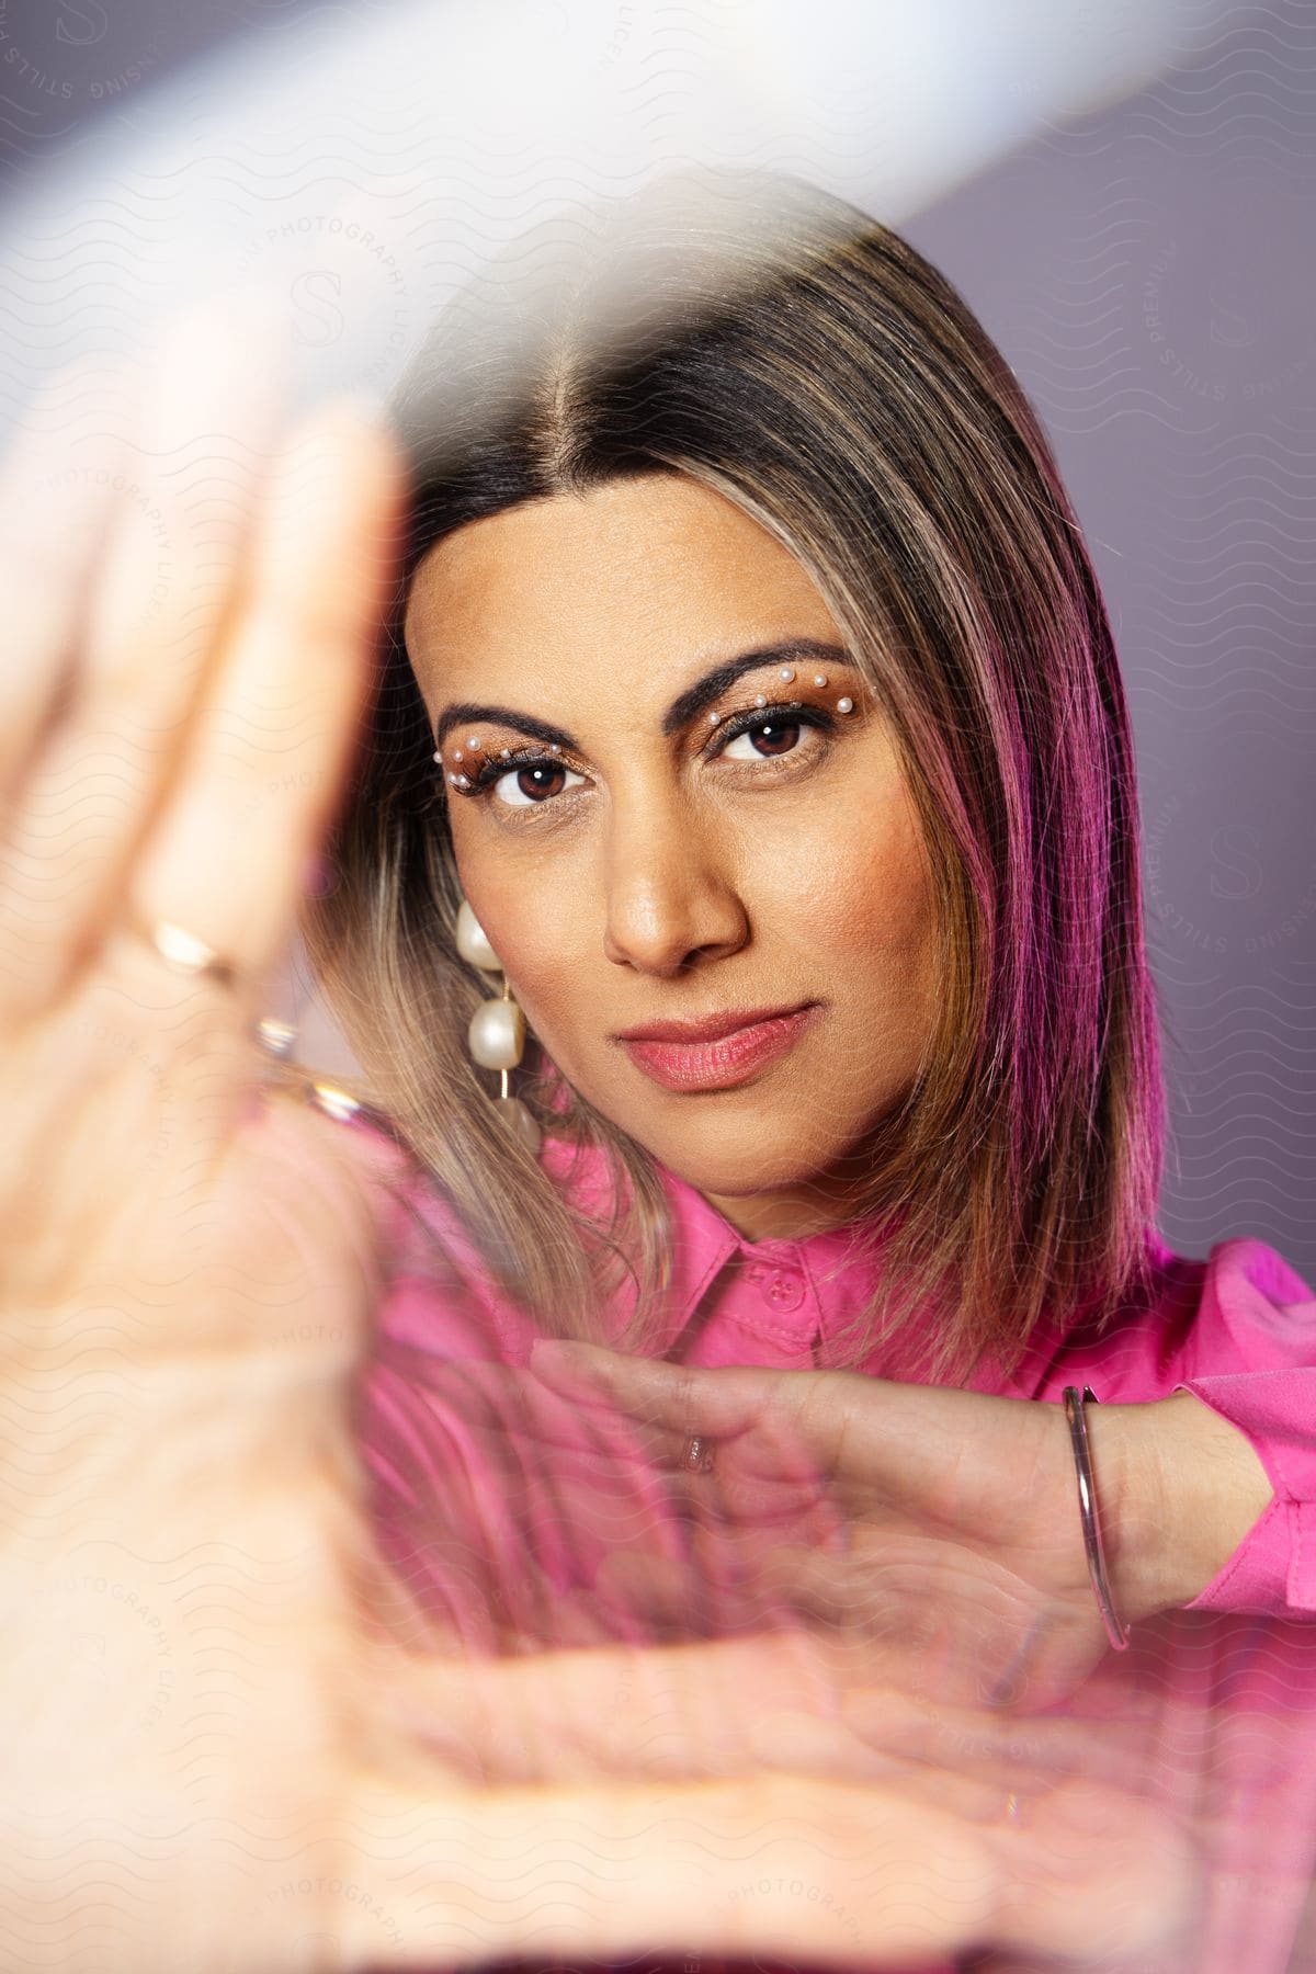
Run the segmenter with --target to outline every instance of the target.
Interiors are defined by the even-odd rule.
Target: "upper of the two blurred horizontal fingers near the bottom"
[[[377,1688],[389,1723],[470,1783],[746,1767],[900,1775],[929,1800],[994,1814],[1004,1790],[1038,1792],[1061,1775],[1134,1779],[1125,1723],[1014,1721],[1006,1735],[979,1709],[872,1686],[862,1654],[801,1631],[643,1650],[600,1648],[594,1632],[584,1650],[466,1664],[391,1652]]]

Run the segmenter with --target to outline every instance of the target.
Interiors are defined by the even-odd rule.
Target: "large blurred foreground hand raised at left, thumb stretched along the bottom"
[[[83,371],[0,470],[6,1960],[872,1962],[1111,1938],[1111,1915],[1158,1936],[1190,1860],[1146,1806],[1081,1777],[1048,1800],[1103,1830],[1000,1828],[1004,1761],[969,1788],[959,1755],[892,1763],[821,1658],[803,1747],[764,1747],[764,1706],[799,1692],[779,1640],[754,1682],[742,1646],[475,1682],[391,1636],[349,1427],[379,1175],[363,1135],[262,1090],[253,1023],[345,774],[401,474],[359,413],[276,444],[268,367],[256,328],[191,320],[132,442],[59,430]],[[172,971],[132,930],[156,922],[235,979]],[[661,1761],[620,1688],[582,1757],[562,1680],[627,1668],[675,1696]],[[531,1775],[452,1745],[499,1696],[517,1745],[539,1731]]]

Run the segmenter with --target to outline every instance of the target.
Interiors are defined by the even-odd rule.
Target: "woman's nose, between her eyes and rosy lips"
[[[639,973],[679,973],[738,951],[750,920],[720,845],[689,811],[614,827],[604,951]]]

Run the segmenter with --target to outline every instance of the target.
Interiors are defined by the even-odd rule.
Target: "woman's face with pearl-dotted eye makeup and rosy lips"
[[[937,981],[910,792],[801,563],[695,480],[614,482],[438,543],[406,645],[462,888],[568,1082],[750,1238],[844,1218]],[[623,1040],[714,1017],[754,1025]]]

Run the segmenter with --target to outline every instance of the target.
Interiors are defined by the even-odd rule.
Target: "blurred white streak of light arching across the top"
[[[900,223],[1038,126],[1148,81],[1221,0],[416,0],[268,26],[83,140],[0,233],[6,393],[258,284],[306,395],[385,395],[535,221],[689,162],[795,172]]]

